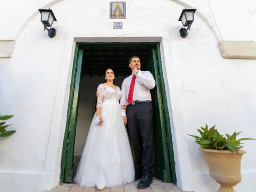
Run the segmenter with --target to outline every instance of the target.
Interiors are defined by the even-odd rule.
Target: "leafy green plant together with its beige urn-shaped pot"
[[[242,140],[255,140],[253,138],[240,138],[236,136],[241,132],[221,135],[215,126],[208,129],[198,129],[200,136],[190,135],[196,138],[196,143],[200,145],[207,160],[210,176],[220,184],[217,192],[235,192],[233,186],[241,181],[241,158],[246,153],[241,146]]]

